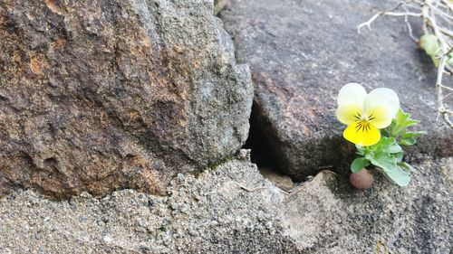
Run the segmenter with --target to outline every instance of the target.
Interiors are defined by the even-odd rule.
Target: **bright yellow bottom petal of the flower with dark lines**
[[[355,121],[346,127],[343,134],[346,140],[359,146],[372,146],[381,139],[381,132],[366,121]]]

